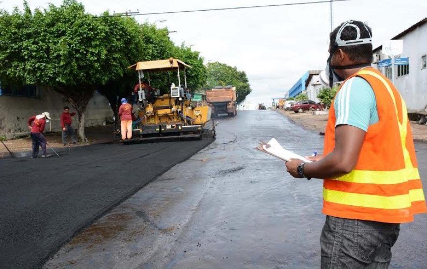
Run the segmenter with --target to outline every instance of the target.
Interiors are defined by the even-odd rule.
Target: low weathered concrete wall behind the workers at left
[[[28,134],[27,120],[29,117],[42,112],[51,113],[52,120],[46,124],[45,132],[61,131],[60,117],[64,106],[70,107],[70,112],[74,112],[71,105],[65,102],[65,97],[49,87],[39,87],[40,98],[0,96],[0,136],[14,138]],[[100,93],[95,93],[89,101],[86,110],[85,126],[103,125],[106,117],[114,116],[108,100]],[[73,127],[77,128],[77,114],[73,116]]]

